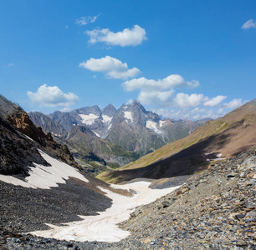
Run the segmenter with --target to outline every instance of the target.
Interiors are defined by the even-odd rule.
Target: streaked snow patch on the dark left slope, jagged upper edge
[[[36,167],[30,168],[29,176],[25,178],[25,181],[2,174],[0,175],[0,180],[5,183],[11,183],[13,185],[22,186],[24,188],[43,189],[58,187],[58,183],[66,183],[66,180],[68,180],[69,177],[78,178],[85,183],[89,183],[89,181],[84,178],[84,176],[80,174],[75,168],[69,166],[66,163],[62,163],[59,160],[51,158],[48,154],[41,150],[38,150],[38,152],[46,162],[51,164],[50,167],[45,167],[43,165],[33,163]]]

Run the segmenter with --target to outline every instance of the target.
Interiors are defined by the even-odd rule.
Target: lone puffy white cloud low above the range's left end
[[[32,102],[44,107],[70,106],[79,101],[74,93],[64,93],[59,87],[48,87],[46,84],[38,87],[37,92],[27,92]]]

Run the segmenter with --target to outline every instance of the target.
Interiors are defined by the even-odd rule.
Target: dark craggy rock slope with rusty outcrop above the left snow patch
[[[54,142],[50,133],[45,134],[42,128],[36,127],[21,107],[3,96],[0,96],[0,117],[1,173],[27,175],[28,166],[33,166],[33,163],[47,165],[37,148],[78,167],[66,146]]]

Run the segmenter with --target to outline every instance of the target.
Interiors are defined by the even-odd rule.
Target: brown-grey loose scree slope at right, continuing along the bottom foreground
[[[255,183],[253,148],[137,208],[120,224],[131,231],[120,243],[33,238],[0,225],[0,249],[256,249]]]

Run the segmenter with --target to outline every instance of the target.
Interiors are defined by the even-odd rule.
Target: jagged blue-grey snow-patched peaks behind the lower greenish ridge
[[[69,132],[74,126],[86,126],[102,139],[120,145],[140,155],[184,138],[207,121],[161,120],[156,113],[146,111],[140,102],[123,104],[118,110],[113,105],[81,107],[71,112],[49,115]]]

